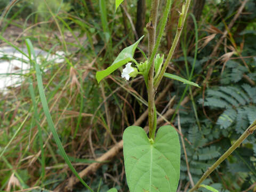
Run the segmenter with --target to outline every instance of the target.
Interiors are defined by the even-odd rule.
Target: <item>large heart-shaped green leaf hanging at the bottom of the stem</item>
[[[180,143],[170,125],[159,128],[154,143],[139,126],[124,131],[124,164],[130,192],[176,191],[180,178]]]

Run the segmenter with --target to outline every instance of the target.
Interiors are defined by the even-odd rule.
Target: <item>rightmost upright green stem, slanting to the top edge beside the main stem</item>
[[[181,35],[181,32],[182,32],[182,28],[184,26],[184,23],[185,23],[185,19],[186,19],[186,16],[187,16],[187,13],[188,13],[188,9],[189,9],[189,5],[190,5],[190,1],[191,0],[187,0],[186,3],[185,3],[185,10],[184,10],[184,14],[180,15],[181,20],[179,22],[181,22],[181,27],[178,26],[177,27],[177,31],[176,31],[176,35],[174,37],[174,40],[173,40],[173,43],[172,43],[172,47],[169,51],[169,54],[164,62],[164,66],[163,68],[161,69],[160,71],[160,74],[158,75],[158,77],[156,78],[156,81],[154,82],[154,88],[155,90],[157,89],[158,85],[160,84],[163,76],[164,76],[164,73],[169,65],[169,62],[170,60],[172,59],[172,55],[178,45],[178,42],[179,42],[179,39],[180,39],[180,35]]]

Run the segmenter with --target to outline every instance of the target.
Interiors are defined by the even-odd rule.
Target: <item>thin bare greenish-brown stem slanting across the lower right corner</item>
[[[255,121],[244,131],[244,133],[234,142],[234,144],[203,174],[201,179],[196,183],[196,185],[189,190],[192,192],[199,188],[201,183],[216,169],[219,164],[221,164],[250,134],[256,130],[256,119]]]

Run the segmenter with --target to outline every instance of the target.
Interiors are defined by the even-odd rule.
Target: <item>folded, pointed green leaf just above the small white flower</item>
[[[134,61],[135,62],[135,60],[133,59],[133,55],[134,55],[135,49],[137,48],[138,44],[140,43],[140,41],[143,37],[144,37],[144,35],[142,37],[140,37],[140,39],[137,42],[135,42],[134,44],[130,45],[129,47],[124,48],[118,54],[117,58],[111,64],[111,66],[109,66],[107,69],[102,70],[102,71],[97,71],[96,79],[97,79],[98,83],[103,78],[105,78],[108,75],[110,75],[111,73],[113,73],[116,69],[125,65],[127,62],[129,62],[129,61]]]

